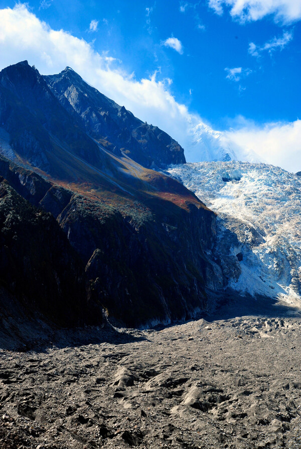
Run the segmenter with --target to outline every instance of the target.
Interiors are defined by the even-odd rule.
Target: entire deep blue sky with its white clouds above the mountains
[[[0,0],[0,68],[20,59],[42,73],[70,65],[170,132],[188,160],[206,159],[218,140],[240,159],[255,152],[284,166],[273,142],[291,140],[290,153],[301,153],[300,19],[301,0]]]

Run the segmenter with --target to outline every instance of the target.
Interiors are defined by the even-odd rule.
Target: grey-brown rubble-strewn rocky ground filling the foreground
[[[261,300],[1,350],[0,447],[299,448],[300,353],[301,311]]]

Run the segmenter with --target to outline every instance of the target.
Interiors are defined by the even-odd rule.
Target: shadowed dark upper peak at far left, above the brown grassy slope
[[[0,116],[15,151],[52,175],[56,175],[52,159],[60,156],[62,147],[89,163],[101,163],[98,146],[27,61],[0,72]]]

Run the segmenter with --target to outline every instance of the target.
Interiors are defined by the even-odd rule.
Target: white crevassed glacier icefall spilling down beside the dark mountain
[[[225,287],[301,304],[301,177],[249,162],[170,166],[217,214]],[[227,256],[225,256],[227,254]]]

